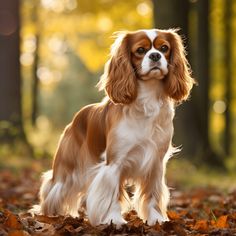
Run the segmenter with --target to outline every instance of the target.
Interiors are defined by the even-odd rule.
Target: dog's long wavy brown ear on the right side
[[[171,44],[169,72],[165,78],[166,93],[177,102],[186,100],[195,83],[191,77],[191,69],[186,59],[186,52],[177,30],[168,30],[167,36]]]

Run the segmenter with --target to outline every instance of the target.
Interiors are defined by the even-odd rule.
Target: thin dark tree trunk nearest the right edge
[[[225,5],[225,68],[226,68],[226,111],[225,111],[225,138],[224,138],[224,149],[225,154],[229,156],[231,154],[231,107],[232,107],[232,9],[233,9],[233,1],[226,0]]]

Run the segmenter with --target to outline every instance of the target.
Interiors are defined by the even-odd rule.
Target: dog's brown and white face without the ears
[[[146,30],[130,37],[131,62],[142,80],[163,79],[168,74],[171,45],[163,33]]]

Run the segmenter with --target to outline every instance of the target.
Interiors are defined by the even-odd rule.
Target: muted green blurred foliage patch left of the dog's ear
[[[67,70],[53,90],[40,91],[40,111],[54,125],[69,123],[74,114],[90,103],[98,102],[101,95],[95,88],[99,76],[91,74],[82,64],[77,55],[70,52]]]

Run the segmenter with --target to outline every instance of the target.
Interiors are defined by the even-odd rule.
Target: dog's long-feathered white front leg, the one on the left
[[[88,189],[86,207],[92,225],[110,224],[118,227],[126,223],[119,204],[121,170],[118,164],[101,163]]]

